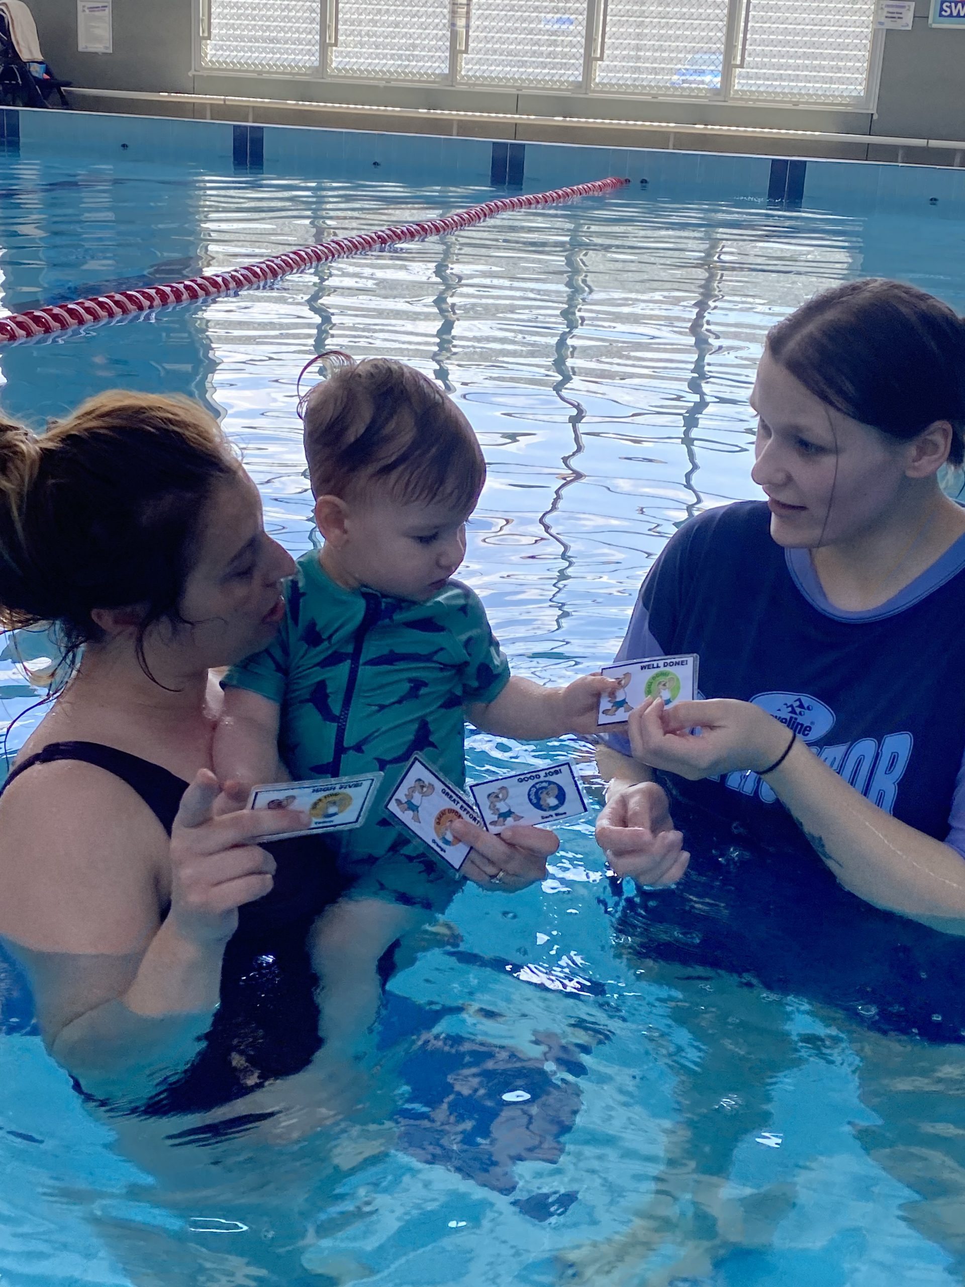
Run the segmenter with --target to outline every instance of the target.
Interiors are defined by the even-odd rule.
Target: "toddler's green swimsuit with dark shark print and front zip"
[[[466,781],[467,703],[495,700],[510,667],[479,597],[458,580],[425,604],[336,584],[311,550],[286,591],[271,645],[228,672],[226,687],[277,701],[279,752],[296,780],[385,772],[368,819],[340,839],[350,898],[439,911],[459,878],[385,812],[418,753]]]

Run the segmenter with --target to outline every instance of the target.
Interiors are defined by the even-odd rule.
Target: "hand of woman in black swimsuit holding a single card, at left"
[[[265,835],[302,831],[306,813],[244,810],[235,784],[221,790],[202,768],[181,797],[171,829],[169,923],[194,943],[225,942],[238,927],[238,907],[271,888],[275,862],[257,846]]]

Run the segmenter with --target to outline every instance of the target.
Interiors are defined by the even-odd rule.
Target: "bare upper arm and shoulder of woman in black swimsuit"
[[[160,921],[169,842],[94,764],[35,764],[0,798],[0,934],[36,951],[130,952]]]

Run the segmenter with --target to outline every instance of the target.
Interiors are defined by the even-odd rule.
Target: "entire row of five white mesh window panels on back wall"
[[[875,3],[198,0],[210,68],[843,107],[870,106]]]

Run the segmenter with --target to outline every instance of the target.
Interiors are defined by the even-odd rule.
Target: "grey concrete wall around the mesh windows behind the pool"
[[[533,112],[538,115],[592,115],[596,117],[623,117],[648,121],[674,121],[679,124],[780,126],[802,130],[822,130],[844,134],[892,135],[901,138],[937,138],[965,140],[965,31],[930,28],[928,26],[928,0],[917,0],[912,31],[893,31],[885,37],[884,64],[878,113],[835,112],[775,107],[733,107],[713,103],[655,102],[654,99],[593,99],[555,94],[516,94],[493,90],[452,90],[445,86],[371,86],[344,82],[313,81],[301,77],[265,79],[225,76],[219,73],[192,75],[192,0],[113,0],[115,53],[77,53],[76,0],[30,0],[40,28],[41,44],[58,75],[77,85],[96,89],[180,90],[203,94],[251,95],[256,98],[302,99],[319,103],[380,103],[385,106],[463,107],[494,112]],[[131,106],[98,100],[81,106],[118,111],[153,111],[148,104]],[[230,113],[219,113],[230,115]],[[241,116],[239,116],[241,118]],[[247,118],[247,116],[244,116]],[[279,113],[257,118],[279,120]],[[337,116],[315,120],[292,115],[291,124],[326,124],[335,127],[365,129],[362,117]],[[371,122],[383,127],[382,122]],[[390,126],[392,127],[392,126]],[[412,130],[413,122],[399,125]],[[432,129],[430,126],[430,129]],[[508,127],[512,131],[512,126]],[[480,124],[470,129],[461,124],[459,133],[499,135],[504,131]],[[601,135],[606,134],[601,130]],[[612,133],[612,131],[610,131]],[[552,130],[539,130],[539,136],[551,139]],[[513,135],[515,136],[515,135]],[[524,136],[522,133],[519,134]],[[573,133],[567,135],[573,138]],[[605,142],[594,131],[585,129],[576,140]],[[623,135],[612,142],[633,145],[636,138]],[[641,140],[643,142],[643,140]],[[659,145],[651,143],[651,145]],[[697,136],[682,135],[678,147],[704,148]],[[717,145],[717,140],[710,144]],[[746,138],[721,139],[721,145],[737,151],[773,151],[773,140],[760,140],[754,145]],[[796,147],[808,153],[808,147]],[[820,151],[820,149],[818,149]],[[840,154],[852,149],[841,148]],[[870,154],[875,158],[875,151]],[[883,157],[884,158],[884,157]],[[908,157],[914,160],[914,157]],[[930,160],[939,160],[932,157]],[[951,163],[951,157],[941,158]]]

